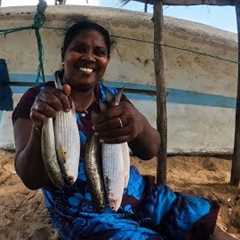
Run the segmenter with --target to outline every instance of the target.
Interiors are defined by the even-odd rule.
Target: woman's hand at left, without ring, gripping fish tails
[[[47,118],[54,118],[59,111],[70,111],[71,87],[64,84],[63,90],[43,87],[37,95],[30,112],[30,119],[36,127],[41,127]]]

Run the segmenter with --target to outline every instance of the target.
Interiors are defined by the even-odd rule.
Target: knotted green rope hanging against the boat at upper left
[[[33,17],[33,24],[31,26],[0,29],[0,36],[4,36],[4,37],[6,37],[10,33],[24,31],[24,30],[31,29],[35,31],[35,36],[37,39],[37,47],[38,47],[38,62],[39,62],[36,83],[39,82],[40,78],[42,78],[42,81],[45,82],[45,74],[44,74],[44,66],[43,66],[43,44],[42,44],[42,38],[39,30],[40,28],[43,27],[46,20],[46,17],[44,15],[46,8],[47,8],[47,3],[44,0],[39,0],[36,13]]]

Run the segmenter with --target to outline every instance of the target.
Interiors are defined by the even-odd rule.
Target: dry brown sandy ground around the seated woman
[[[40,191],[24,187],[14,171],[14,153],[0,150],[0,240],[57,239]],[[143,174],[155,175],[156,162],[133,159]],[[231,162],[214,157],[168,159],[168,183],[175,191],[202,195],[221,205],[218,226],[240,239],[240,189],[228,185]]]

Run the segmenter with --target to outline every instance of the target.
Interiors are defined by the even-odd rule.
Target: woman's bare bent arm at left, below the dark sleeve
[[[14,124],[16,145],[15,168],[26,187],[50,186],[41,158],[41,129],[33,128],[29,119],[19,118]]]

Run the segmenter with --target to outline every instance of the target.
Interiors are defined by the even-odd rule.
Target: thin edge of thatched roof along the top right
[[[136,2],[154,4],[159,0],[134,0]],[[123,3],[128,3],[130,0],[122,0]],[[163,0],[164,5],[236,5],[239,0]]]

